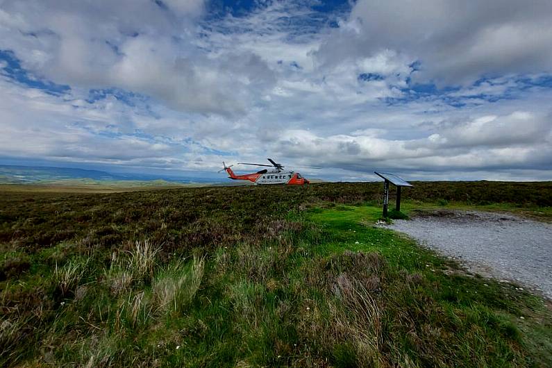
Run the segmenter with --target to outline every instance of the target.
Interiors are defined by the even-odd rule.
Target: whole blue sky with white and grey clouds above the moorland
[[[266,158],[552,180],[552,1],[0,0],[0,164]]]

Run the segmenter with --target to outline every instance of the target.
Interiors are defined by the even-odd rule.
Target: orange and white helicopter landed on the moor
[[[231,167],[233,167],[234,165],[226,166],[223,161],[222,165],[224,165],[224,169],[219,170],[219,172],[222,172],[224,170],[228,173],[228,178],[231,178],[233,180],[248,180],[255,183],[256,185],[303,185],[310,183],[310,181],[308,181],[306,178],[303,178],[303,176],[301,176],[301,174],[299,174],[298,172],[284,170],[284,166],[274,162],[274,160],[272,160],[271,158],[267,158],[267,160],[269,160],[272,165],[250,164],[247,162],[237,162],[237,165],[266,166],[273,167],[273,169],[262,169],[252,174],[236,175],[231,169]],[[320,167],[310,167],[310,169],[320,169]]]

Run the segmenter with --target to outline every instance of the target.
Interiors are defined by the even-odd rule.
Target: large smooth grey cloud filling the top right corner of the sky
[[[551,17],[547,0],[359,0],[317,56],[333,65],[392,49],[421,60],[418,81],[449,84],[551,72]]]

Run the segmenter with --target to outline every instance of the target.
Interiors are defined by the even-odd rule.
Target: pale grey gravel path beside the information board
[[[528,285],[552,299],[552,225],[492,212],[421,212],[386,226],[470,269]]]

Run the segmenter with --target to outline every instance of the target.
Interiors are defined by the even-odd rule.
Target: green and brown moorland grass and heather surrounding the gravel
[[[552,183],[414,184],[551,214]],[[382,187],[0,193],[0,365],[552,365],[546,303],[374,228]]]

